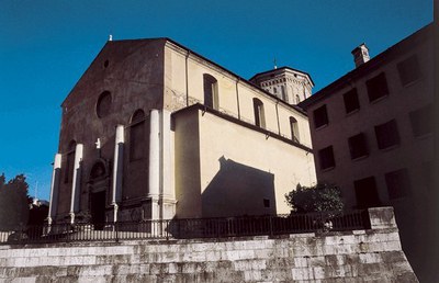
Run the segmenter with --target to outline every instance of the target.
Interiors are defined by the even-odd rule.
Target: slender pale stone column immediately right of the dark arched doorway
[[[114,207],[113,222],[117,222],[117,208],[122,197],[123,178],[123,146],[125,143],[125,128],[123,125],[116,126],[116,138],[114,143],[114,166],[111,204]]]

